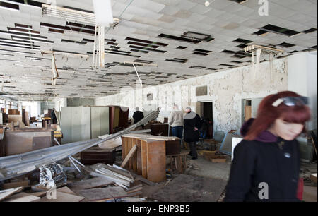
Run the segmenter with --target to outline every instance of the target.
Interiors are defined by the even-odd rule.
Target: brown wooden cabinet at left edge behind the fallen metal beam
[[[53,146],[54,132],[41,128],[7,130],[0,140],[0,157],[17,155]]]

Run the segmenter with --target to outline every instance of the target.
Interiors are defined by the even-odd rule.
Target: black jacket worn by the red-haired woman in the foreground
[[[279,137],[274,142],[242,140],[234,150],[225,201],[299,201],[298,145]],[[268,184],[268,199],[259,199],[261,182]]]

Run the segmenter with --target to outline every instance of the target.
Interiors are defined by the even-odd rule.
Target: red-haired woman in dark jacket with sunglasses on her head
[[[299,143],[310,119],[307,97],[284,91],[264,98],[242,126],[225,201],[299,201]]]

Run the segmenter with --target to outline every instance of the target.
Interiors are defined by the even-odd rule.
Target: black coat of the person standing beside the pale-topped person
[[[200,129],[202,126],[201,119],[195,112],[185,114],[183,120],[184,141],[187,143],[196,142],[199,140],[199,130],[194,131],[194,127]]]

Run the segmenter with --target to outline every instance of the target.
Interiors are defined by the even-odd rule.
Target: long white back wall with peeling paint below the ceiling
[[[244,66],[151,88],[128,88],[129,91],[122,90],[117,95],[97,98],[95,105],[129,107],[129,116],[134,112],[134,107],[140,107],[141,110],[161,107],[160,116],[168,116],[173,103],[179,104],[182,109],[192,107],[196,112],[196,102],[211,101],[214,131],[240,129],[242,99],[265,97],[287,90],[287,66],[287,59],[274,60],[272,79],[269,62],[263,62],[257,73],[254,73],[252,66]],[[196,97],[196,87],[202,85],[208,85],[208,95]],[[149,92],[153,93],[152,101],[147,101],[146,95]]]

